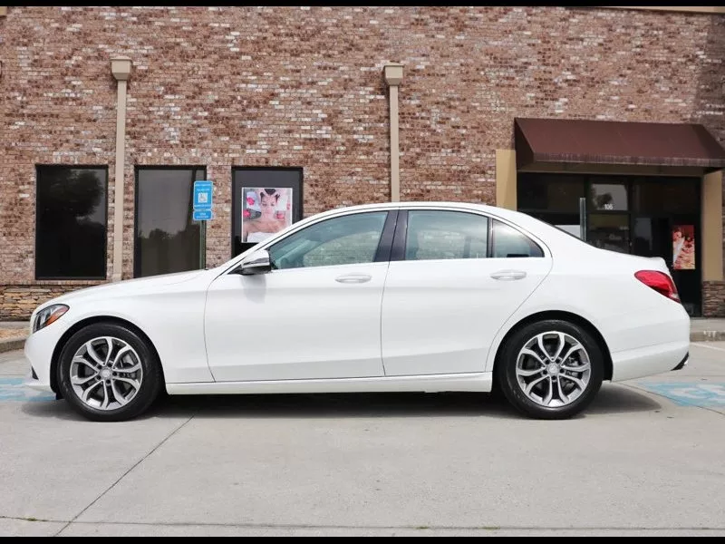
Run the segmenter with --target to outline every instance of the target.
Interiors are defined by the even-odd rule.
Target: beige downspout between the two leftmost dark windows
[[[111,59],[111,73],[117,82],[116,164],[113,172],[113,264],[111,281],[121,281],[123,268],[123,174],[126,165],[126,83],[131,75],[131,59]]]

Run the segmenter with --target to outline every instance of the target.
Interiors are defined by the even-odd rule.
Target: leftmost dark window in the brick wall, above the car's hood
[[[105,167],[37,168],[35,277],[106,277]]]

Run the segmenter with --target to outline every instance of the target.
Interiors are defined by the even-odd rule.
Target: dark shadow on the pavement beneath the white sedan
[[[653,412],[661,405],[651,395],[604,384],[594,402],[576,416]],[[65,402],[25,403],[24,413],[82,420]],[[314,393],[164,395],[138,420],[152,417],[338,418],[476,416],[520,419],[496,393]]]

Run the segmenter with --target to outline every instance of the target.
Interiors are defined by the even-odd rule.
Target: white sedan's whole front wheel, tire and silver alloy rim
[[[63,347],[58,384],[73,409],[102,422],[129,420],[159,395],[160,364],[138,334],[122,325],[97,323]]]

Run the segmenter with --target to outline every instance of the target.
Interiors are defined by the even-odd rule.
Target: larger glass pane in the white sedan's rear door
[[[488,218],[460,211],[411,210],[405,260],[485,258]]]

